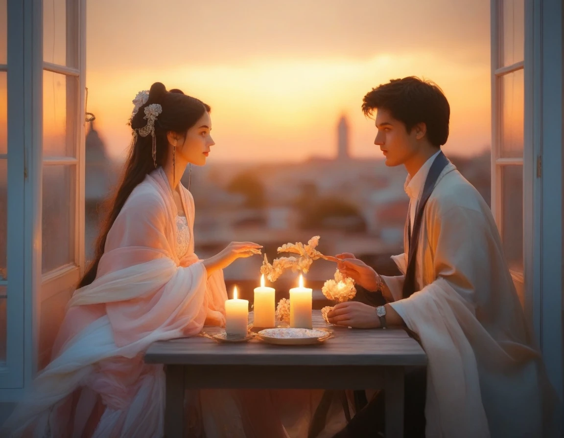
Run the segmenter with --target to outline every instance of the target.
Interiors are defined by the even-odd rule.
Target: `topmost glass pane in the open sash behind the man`
[[[525,0],[503,2],[503,65],[525,59]]]

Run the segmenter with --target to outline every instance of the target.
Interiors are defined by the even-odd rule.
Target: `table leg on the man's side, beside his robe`
[[[403,367],[386,368],[384,397],[386,438],[403,438]]]

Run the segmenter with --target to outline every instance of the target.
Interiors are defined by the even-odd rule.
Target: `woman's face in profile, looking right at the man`
[[[210,114],[208,111],[204,111],[204,114],[196,124],[186,131],[184,141],[182,138],[179,139],[176,146],[177,158],[179,158],[180,155],[180,158],[186,160],[187,163],[192,163],[196,166],[204,166],[211,146],[215,145],[215,142],[211,138],[210,131]]]

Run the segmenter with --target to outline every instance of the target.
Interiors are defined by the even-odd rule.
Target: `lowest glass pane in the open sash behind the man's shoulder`
[[[509,269],[523,272],[523,166],[501,167],[501,240]]]

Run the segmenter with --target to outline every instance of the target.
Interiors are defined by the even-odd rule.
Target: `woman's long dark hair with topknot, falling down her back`
[[[210,111],[210,107],[204,104],[204,102],[195,97],[187,96],[178,89],[166,91],[162,83],[155,82],[152,84],[147,102],[131,118],[131,128],[134,130],[134,136],[125,169],[117,190],[112,198],[107,201],[108,213],[100,226],[100,235],[96,242],[96,255],[86,269],[86,273],[80,280],[80,283],[78,283],[79,288],[89,285],[96,278],[98,264],[102,254],[104,254],[106,238],[113,222],[116,220],[117,215],[120,214],[125,201],[133,189],[144,180],[148,173],[155,169],[152,155],[152,136],[142,137],[135,135],[135,129],[146,126],[147,120],[144,119],[144,109],[151,104],[159,104],[162,107],[162,113],[158,115],[155,122],[157,166],[162,166],[166,162],[169,150],[166,134],[169,131],[173,131],[185,135],[186,131],[194,126],[200,117],[204,115],[205,111]]]

